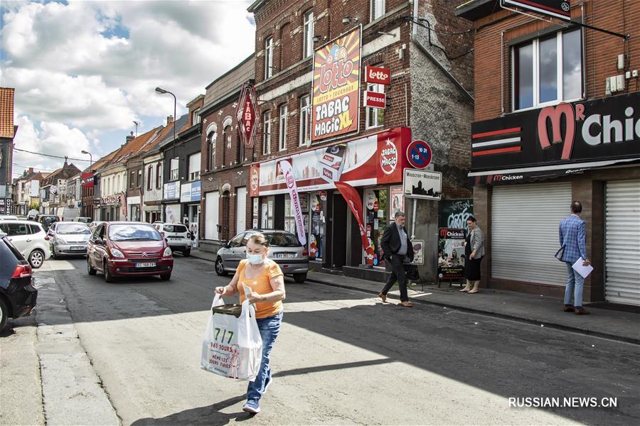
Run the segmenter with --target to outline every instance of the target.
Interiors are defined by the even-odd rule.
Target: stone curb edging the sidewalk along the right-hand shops
[[[378,295],[378,292],[375,291],[375,290],[366,290],[366,289],[363,289],[363,288],[351,287],[349,285],[344,285],[344,284],[329,283],[327,281],[322,281],[322,280],[318,280],[318,279],[314,279],[314,278],[306,278],[306,280],[311,282],[311,283],[329,285],[331,287],[345,288],[347,290],[356,290],[356,291],[361,291],[362,293],[369,293],[369,294],[373,294],[373,295]],[[390,297],[390,295],[387,295],[387,297],[392,298],[392,297]],[[395,297],[393,297],[393,299],[397,300],[397,299],[395,299]],[[434,306],[447,307],[449,309],[459,310],[459,311],[462,311],[462,312],[469,312],[471,314],[476,314],[476,315],[486,315],[486,316],[491,316],[491,317],[497,317],[497,318],[501,318],[502,320],[510,320],[510,321],[522,322],[524,324],[532,324],[532,325],[543,324],[545,327],[552,328],[552,329],[558,329],[558,330],[562,330],[562,331],[565,331],[565,332],[574,332],[574,333],[577,333],[577,334],[583,334],[585,336],[600,337],[602,339],[610,339],[610,340],[615,340],[617,342],[636,344],[636,345],[640,346],[640,338],[636,339],[636,338],[633,338],[633,337],[618,336],[616,334],[609,334],[609,333],[604,333],[604,332],[594,332],[592,330],[582,329],[580,327],[572,327],[570,325],[558,324],[557,322],[547,322],[547,321],[543,321],[543,320],[536,320],[535,318],[516,317],[515,315],[503,314],[501,312],[478,310],[478,309],[474,309],[474,308],[471,308],[471,307],[462,307],[462,306],[452,305],[450,303],[432,302],[430,300],[422,300],[422,299],[418,299],[418,298],[415,298],[415,297],[412,298],[411,301],[412,302],[421,303],[423,305],[434,305]]]

